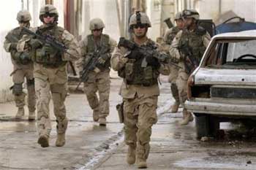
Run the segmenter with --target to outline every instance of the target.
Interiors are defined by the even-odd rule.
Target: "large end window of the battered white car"
[[[210,67],[256,67],[256,39],[219,40],[206,59]]]

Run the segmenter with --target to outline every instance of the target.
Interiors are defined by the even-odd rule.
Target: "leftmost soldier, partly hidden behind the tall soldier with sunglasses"
[[[35,119],[35,105],[36,97],[34,90],[34,76],[33,76],[33,63],[28,53],[19,53],[17,51],[17,43],[23,36],[21,29],[23,27],[30,27],[31,15],[29,11],[21,10],[17,14],[19,27],[14,28],[5,37],[4,49],[11,53],[13,72],[12,93],[15,96],[15,104],[18,107],[18,112],[15,116],[16,119],[21,119],[24,116],[25,96],[23,93],[23,82],[26,77],[26,88],[28,90],[28,107],[29,107],[29,120]]]

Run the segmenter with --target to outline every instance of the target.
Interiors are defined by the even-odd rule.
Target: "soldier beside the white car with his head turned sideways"
[[[181,30],[173,39],[170,46],[170,56],[179,61],[179,65],[183,69],[178,69],[178,78],[176,80],[178,86],[178,96],[180,103],[184,105],[187,100],[187,80],[191,72],[187,72],[187,54],[180,53],[184,49],[191,50],[192,57],[196,58],[197,62],[203,57],[203,53],[211,40],[210,35],[206,29],[197,26],[199,20],[199,13],[194,9],[184,10],[182,12],[186,28]],[[193,120],[193,116],[187,109],[183,109],[184,119],[180,125],[187,125]]]

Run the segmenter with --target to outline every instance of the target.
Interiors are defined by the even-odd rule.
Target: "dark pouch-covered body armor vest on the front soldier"
[[[154,42],[150,41],[146,45],[148,50],[153,50]],[[118,75],[124,78],[127,85],[142,85],[151,86],[157,85],[159,72],[154,66],[142,67],[145,56],[139,59],[129,59],[121,71],[118,71]]]

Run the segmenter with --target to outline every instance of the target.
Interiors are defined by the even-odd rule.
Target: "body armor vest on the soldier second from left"
[[[64,28],[61,28],[59,26],[50,26],[48,28],[38,28],[37,29],[37,34],[42,34],[43,36],[45,35],[50,35],[56,37],[56,40],[58,42],[64,43],[62,40],[62,34],[64,32]],[[42,47],[43,48],[43,47]],[[44,54],[44,55],[37,55],[39,53],[42,53],[40,50],[42,48],[37,49],[36,55],[32,60],[36,63],[41,63],[45,67],[50,67],[50,68],[58,68],[59,66],[64,66],[67,61],[62,61],[61,55],[59,51],[53,54]]]

